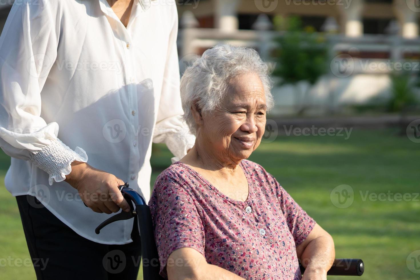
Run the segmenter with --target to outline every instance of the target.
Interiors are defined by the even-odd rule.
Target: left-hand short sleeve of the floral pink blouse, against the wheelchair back
[[[190,247],[205,255],[204,227],[186,188],[181,178],[165,170],[156,179],[149,201],[163,277],[167,277],[168,257],[176,249]]]

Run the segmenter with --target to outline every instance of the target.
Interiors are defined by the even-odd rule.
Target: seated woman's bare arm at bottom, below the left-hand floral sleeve
[[[166,263],[168,280],[243,280],[244,278],[213,264],[193,248],[173,251]]]

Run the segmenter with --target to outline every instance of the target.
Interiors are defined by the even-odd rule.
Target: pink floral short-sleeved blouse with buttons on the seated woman
[[[176,249],[191,247],[209,264],[245,279],[302,278],[296,247],[315,221],[255,162],[240,163],[249,195],[223,195],[188,165],[175,162],[155,182],[149,201],[160,274]]]

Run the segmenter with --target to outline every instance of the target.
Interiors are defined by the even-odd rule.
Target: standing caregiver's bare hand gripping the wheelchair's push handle
[[[71,163],[71,173],[64,180],[75,188],[83,202],[97,213],[118,212],[120,208],[130,211],[118,186],[124,181],[110,173],[75,160]]]

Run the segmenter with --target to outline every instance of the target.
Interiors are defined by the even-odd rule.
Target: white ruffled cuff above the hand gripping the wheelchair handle
[[[30,162],[50,174],[48,179],[50,186],[54,181],[61,182],[66,179],[66,175],[71,172],[71,162],[75,160],[87,162],[84,149],[76,147],[73,151],[58,138],[51,140],[50,145],[29,156]]]

